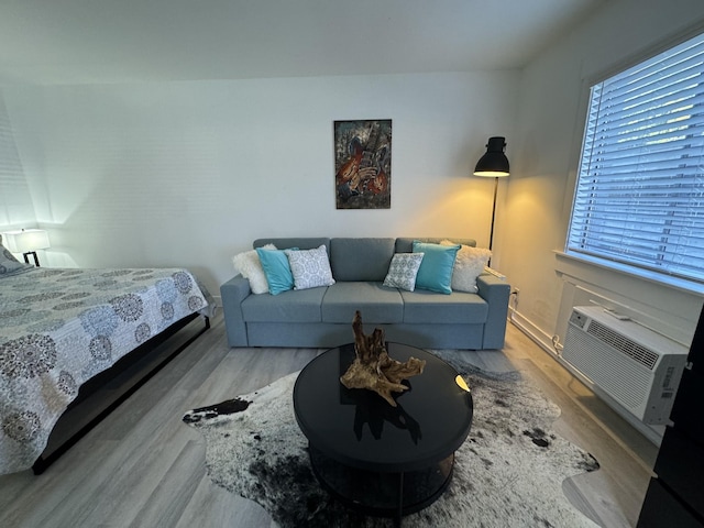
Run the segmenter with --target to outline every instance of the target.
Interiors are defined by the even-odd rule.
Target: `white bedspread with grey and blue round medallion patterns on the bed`
[[[185,270],[0,275],[0,474],[32,466],[84,382],[212,306]]]

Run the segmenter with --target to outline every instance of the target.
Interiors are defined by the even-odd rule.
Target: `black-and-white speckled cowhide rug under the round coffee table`
[[[594,527],[562,492],[564,479],[598,469],[585,451],[550,431],[560,409],[517,372],[492,374],[436,351],[464,376],[474,399],[470,436],[455,453],[452,482],[408,528]],[[252,394],[187,413],[207,441],[219,486],[255,501],[285,527],[386,527],[332,499],[310,469],[293,409],[298,373]]]

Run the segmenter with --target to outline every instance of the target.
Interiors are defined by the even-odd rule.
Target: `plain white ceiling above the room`
[[[520,68],[606,0],[0,0],[0,84]]]

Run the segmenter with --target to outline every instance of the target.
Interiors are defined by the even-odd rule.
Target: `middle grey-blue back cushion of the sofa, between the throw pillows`
[[[330,264],[336,280],[384,282],[394,256],[394,239],[331,239]]]

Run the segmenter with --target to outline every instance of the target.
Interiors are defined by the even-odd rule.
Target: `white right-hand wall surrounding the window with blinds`
[[[697,22],[698,21],[698,22]],[[689,343],[702,296],[556,256],[565,233],[588,82],[698,25],[701,0],[606,2],[524,72],[518,130],[509,139],[512,176],[497,220],[498,266],[520,289],[516,320],[550,343],[564,339],[566,312],[584,290],[634,309],[657,330]],[[558,270],[560,273],[558,273]]]

